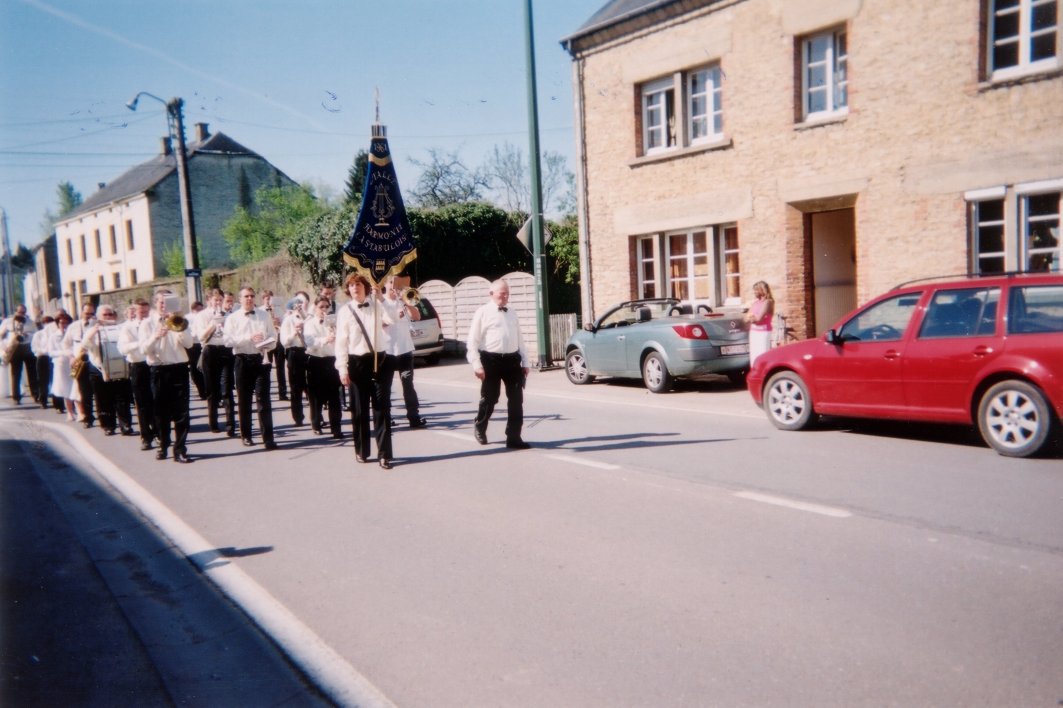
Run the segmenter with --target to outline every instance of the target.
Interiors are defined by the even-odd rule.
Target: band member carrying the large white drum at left
[[[118,313],[112,305],[100,305],[97,314],[99,319],[85,332],[83,343],[100,426],[104,435],[114,435],[116,425],[122,435],[133,435],[129,367],[118,351]]]

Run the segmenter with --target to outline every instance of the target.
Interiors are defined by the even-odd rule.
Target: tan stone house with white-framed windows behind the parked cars
[[[573,60],[584,316],[798,337],[901,282],[1061,269],[1058,0],[611,0]]]

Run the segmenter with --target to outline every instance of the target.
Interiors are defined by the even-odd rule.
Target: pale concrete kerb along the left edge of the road
[[[12,421],[0,421],[11,427]],[[328,646],[287,607],[235,563],[212,566],[217,558],[217,545],[209,543],[192,527],[159,502],[147,489],[125,474],[103,453],[87,444],[77,431],[62,423],[37,421],[36,425],[64,437],[107,483],[140,510],[200,572],[242,608],[255,624],[269,635],[285,654],[337,705],[393,708],[391,703],[368,678],[347,659]],[[21,427],[21,426],[20,426]],[[20,439],[24,433],[20,434]],[[170,467],[170,466],[168,466]]]

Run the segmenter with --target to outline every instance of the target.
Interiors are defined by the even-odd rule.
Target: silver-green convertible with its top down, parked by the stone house
[[[677,376],[724,374],[743,381],[749,368],[749,325],[742,316],[695,311],[678,300],[624,302],[569,339],[564,370],[573,384],[595,376],[642,378],[654,393]]]

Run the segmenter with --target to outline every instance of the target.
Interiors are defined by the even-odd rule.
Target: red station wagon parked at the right
[[[898,286],[817,339],[759,356],[749,392],[784,431],[816,415],[976,424],[1026,457],[1063,418],[1063,275]]]

